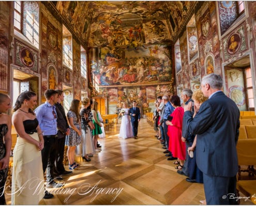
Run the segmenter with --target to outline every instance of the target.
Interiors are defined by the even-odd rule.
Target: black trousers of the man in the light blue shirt
[[[50,182],[54,179],[53,169],[56,159],[57,138],[48,138],[43,136],[43,139],[44,147],[41,151],[43,173],[46,171],[46,181]]]

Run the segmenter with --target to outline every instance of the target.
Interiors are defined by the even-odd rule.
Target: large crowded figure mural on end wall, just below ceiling
[[[103,47],[99,62],[91,62],[92,72],[101,86],[170,82],[170,50],[162,45],[137,49]]]

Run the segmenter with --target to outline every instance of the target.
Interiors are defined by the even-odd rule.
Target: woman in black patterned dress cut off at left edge
[[[6,204],[4,188],[11,152],[11,118],[4,113],[10,108],[11,100],[9,96],[0,93],[0,205]]]

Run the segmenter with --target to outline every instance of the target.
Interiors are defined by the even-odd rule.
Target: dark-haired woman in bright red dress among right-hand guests
[[[171,116],[171,121],[167,121],[169,141],[169,150],[172,152],[173,157],[178,158],[174,164],[178,164],[176,169],[182,169],[184,160],[186,159],[186,144],[182,142],[182,121],[184,109],[180,107],[180,98],[177,95],[171,97],[171,104],[175,108]]]

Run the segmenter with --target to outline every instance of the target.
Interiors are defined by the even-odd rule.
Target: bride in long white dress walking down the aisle
[[[129,108],[127,108],[127,102],[124,102],[123,109],[119,113],[119,115],[123,115],[120,126],[119,138],[127,139],[132,138],[133,136],[131,121],[128,112]]]

